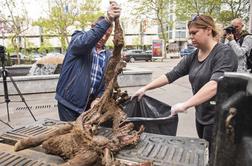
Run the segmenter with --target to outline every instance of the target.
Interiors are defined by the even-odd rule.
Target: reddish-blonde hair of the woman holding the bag
[[[211,16],[197,15],[191,21],[188,22],[187,27],[190,28],[191,26],[196,26],[198,28],[203,29],[210,27],[212,29],[213,37],[217,36],[218,34],[214,20]]]

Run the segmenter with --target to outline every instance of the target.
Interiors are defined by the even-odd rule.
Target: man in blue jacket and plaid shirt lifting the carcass
[[[76,120],[102,96],[104,73],[111,56],[104,45],[120,12],[117,3],[112,1],[107,17],[100,17],[89,31],[73,33],[56,88],[60,120]]]

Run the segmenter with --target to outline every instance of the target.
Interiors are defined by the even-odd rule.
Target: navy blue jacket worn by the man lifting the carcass
[[[101,20],[89,31],[75,31],[72,35],[55,96],[59,103],[71,110],[81,113],[86,109],[91,89],[91,51],[109,27],[110,24],[106,20]],[[106,51],[106,55],[105,66],[111,53]],[[104,81],[97,91],[99,94],[95,97],[101,96],[104,92]]]

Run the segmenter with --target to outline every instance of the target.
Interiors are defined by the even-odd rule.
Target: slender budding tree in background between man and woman
[[[140,24],[142,24],[143,17],[157,20],[160,26],[160,37],[165,44],[168,44],[167,27],[169,22],[167,5],[170,0],[129,0],[129,2],[135,4],[134,6],[136,7],[132,10],[132,14],[140,18]]]

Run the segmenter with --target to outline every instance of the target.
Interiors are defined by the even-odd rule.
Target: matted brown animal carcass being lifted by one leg
[[[127,145],[136,144],[144,128],[141,126],[139,131],[133,130],[133,123],[125,122],[126,114],[118,104],[119,100],[125,98],[125,93],[120,91],[117,83],[117,76],[125,66],[121,61],[124,39],[118,18],[115,20],[114,34],[113,56],[105,73],[106,90],[100,102],[83,112],[72,124],[66,124],[43,136],[18,141],[16,151],[42,143],[46,153],[67,160],[64,165],[86,166],[97,162],[105,166],[120,165],[113,158],[114,154]],[[97,135],[100,124],[108,120],[113,121],[112,136],[107,138]]]

